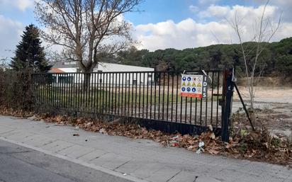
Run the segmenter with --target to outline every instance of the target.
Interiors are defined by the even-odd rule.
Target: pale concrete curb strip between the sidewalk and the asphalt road
[[[91,169],[95,169],[95,170],[97,170],[97,171],[102,171],[102,172],[104,172],[104,173],[106,173],[106,174],[110,174],[110,175],[112,175],[112,176],[117,176],[117,177],[119,177],[119,178],[124,178],[124,179],[129,180],[129,181],[136,181],[136,182],[149,182],[149,181],[145,181],[145,180],[143,180],[143,179],[141,179],[141,178],[137,178],[137,177],[135,177],[135,176],[130,176],[130,175],[128,175],[128,174],[124,176],[123,174],[121,174],[120,172],[117,172],[117,171],[112,171],[112,170],[110,170],[110,169],[106,169],[106,168],[103,168],[103,167],[101,167],[101,166],[96,166],[96,165],[94,165],[94,164],[89,164],[89,163],[84,162],[84,161],[81,161],[81,160],[79,160],[79,159],[73,159],[73,158],[71,158],[71,157],[66,157],[66,156],[61,155],[61,154],[56,154],[56,153],[53,153],[53,152],[49,152],[49,151],[47,151],[47,150],[45,150],[45,149],[40,149],[39,147],[33,147],[33,146],[28,145],[28,144],[23,144],[23,143],[21,143],[21,142],[16,142],[16,141],[14,141],[14,140],[9,140],[9,139],[6,139],[6,138],[4,138],[4,137],[0,137],[0,140],[3,140],[3,141],[5,141],[5,142],[10,142],[10,143],[13,143],[13,144],[18,144],[18,145],[20,145],[20,146],[22,146],[22,147],[26,147],[26,148],[28,148],[28,149],[33,149],[33,150],[36,150],[36,151],[38,151],[38,152],[42,152],[42,153],[44,153],[44,154],[51,155],[51,156],[53,156],[53,157],[57,157],[57,158],[60,158],[60,159],[64,159],[64,160],[67,160],[67,161],[71,161],[71,162],[73,162],[73,163],[75,163],[75,164],[80,164],[80,165],[82,165],[82,166],[86,166],[86,167],[89,167],[89,168],[91,168]]]

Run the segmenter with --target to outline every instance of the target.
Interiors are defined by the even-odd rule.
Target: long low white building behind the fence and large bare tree
[[[154,68],[100,62],[91,74],[91,84],[150,85],[154,82]],[[84,74],[77,62],[55,62],[50,70],[55,84],[81,84]]]

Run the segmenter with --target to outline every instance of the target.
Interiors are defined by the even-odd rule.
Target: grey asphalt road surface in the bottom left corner
[[[0,140],[0,182],[127,181]]]

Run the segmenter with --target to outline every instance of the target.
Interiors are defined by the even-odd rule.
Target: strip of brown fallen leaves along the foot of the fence
[[[267,130],[252,132],[249,128],[233,131],[229,142],[222,142],[215,136],[212,126],[208,132],[201,135],[169,134],[159,130],[147,130],[136,124],[117,122],[101,122],[91,118],[74,118],[67,115],[34,114],[23,110],[0,108],[0,115],[12,115],[18,118],[43,120],[56,125],[72,125],[86,131],[99,132],[103,135],[131,137],[133,139],[147,139],[159,142],[164,147],[180,147],[196,154],[206,153],[223,155],[236,159],[265,161],[273,164],[282,164],[292,168],[292,141],[273,137]],[[79,134],[74,134],[79,136]]]

